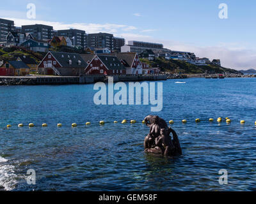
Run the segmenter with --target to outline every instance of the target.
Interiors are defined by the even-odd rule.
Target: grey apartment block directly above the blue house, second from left
[[[36,40],[49,40],[54,36],[53,27],[49,25],[22,25],[21,31],[32,34]]]

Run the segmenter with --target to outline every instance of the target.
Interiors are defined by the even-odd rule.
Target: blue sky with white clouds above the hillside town
[[[36,5],[36,19],[26,17],[28,3]],[[220,3],[228,6],[227,19],[218,17]],[[228,68],[248,69],[256,68],[255,11],[253,0],[8,0],[1,4],[0,17],[12,18],[17,26],[44,23],[54,29],[74,27],[159,42],[172,50],[221,59]]]

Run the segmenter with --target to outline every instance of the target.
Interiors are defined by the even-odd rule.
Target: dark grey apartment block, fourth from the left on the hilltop
[[[109,50],[114,50],[113,38],[113,34],[109,33],[88,34],[88,47],[108,48]]]

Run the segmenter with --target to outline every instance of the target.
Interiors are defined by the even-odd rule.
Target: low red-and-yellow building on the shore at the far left
[[[8,61],[0,68],[0,76],[26,76],[30,68],[22,61]]]

